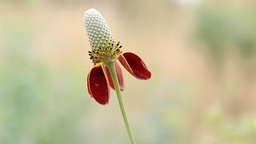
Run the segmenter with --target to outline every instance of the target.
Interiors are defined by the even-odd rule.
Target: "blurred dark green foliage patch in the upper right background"
[[[198,37],[218,61],[230,52],[238,51],[243,58],[256,54],[255,9],[237,6],[202,6],[198,10]]]

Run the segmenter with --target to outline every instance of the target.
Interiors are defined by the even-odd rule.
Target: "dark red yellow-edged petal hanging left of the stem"
[[[105,74],[100,64],[95,65],[87,77],[87,87],[89,94],[100,104],[105,105],[109,102],[110,87],[106,81]]]

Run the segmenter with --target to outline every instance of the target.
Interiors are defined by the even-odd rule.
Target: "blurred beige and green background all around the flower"
[[[255,1],[2,0],[1,144],[129,143],[114,90],[86,90],[90,8],[152,73],[122,69],[138,143],[256,143]]]

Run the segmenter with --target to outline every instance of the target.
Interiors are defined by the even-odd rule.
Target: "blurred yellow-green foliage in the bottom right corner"
[[[203,122],[212,143],[253,144],[256,142],[256,115],[228,117],[219,107],[206,110]]]

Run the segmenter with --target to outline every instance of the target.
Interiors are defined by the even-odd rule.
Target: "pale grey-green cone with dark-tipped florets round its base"
[[[95,64],[116,59],[121,54],[119,43],[114,43],[110,28],[107,26],[102,14],[94,9],[86,10],[84,22],[92,48],[92,51],[89,52],[90,59]]]

